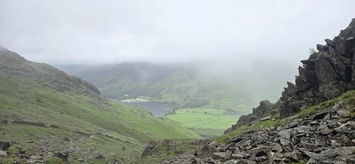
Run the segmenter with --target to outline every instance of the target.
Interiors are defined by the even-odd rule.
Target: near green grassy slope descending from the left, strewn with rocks
[[[70,163],[98,154],[128,163],[140,158],[151,140],[200,138],[137,106],[108,102],[92,84],[9,50],[0,50],[0,121],[0,141],[11,141],[11,150],[21,147],[29,158],[40,156],[27,160],[48,160],[55,152],[68,151]],[[13,152],[0,163],[26,160]]]

